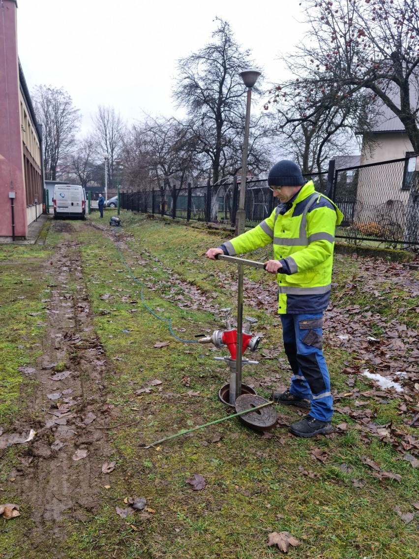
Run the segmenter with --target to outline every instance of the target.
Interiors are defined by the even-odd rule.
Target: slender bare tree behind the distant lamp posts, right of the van
[[[115,159],[120,157],[126,125],[113,107],[99,105],[93,116],[93,138],[96,145],[97,161],[103,161],[103,153],[108,154],[108,183],[114,185]]]

